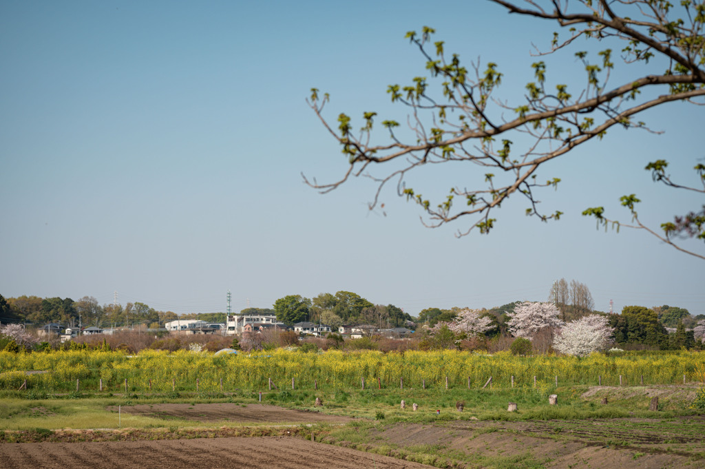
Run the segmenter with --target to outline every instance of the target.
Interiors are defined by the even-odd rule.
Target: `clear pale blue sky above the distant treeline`
[[[642,168],[668,159],[696,184],[703,108],[662,106],[643,120],[663,135],[615,130],[547,166],[540,178],[563,183],[539,198],[562,219],[524,217],[516,199],[490,236],[455,238],[470,220],[426,229],[394,190],[384,214],[369,212],[369,181],[328,195],[302,183],[346,169],[309,89],[331,94],[331,121],[371,110],[405,121],[386,85],[425,75],[403,39],[423,25],[467,61],[496,61],[508,98],[532,79],[531,43],[554,29],[486,1],[2,2],[0,293],[111,303],[117,291],[123,304],[215,312],[228,289],[235,311],[346,290],[417,315],[546,300],[565,277],[598,310],[612,299],[705,314],[703,261],[580,216],[603,205],[628,221],[628,193],[656,226],[701,205]],[[580,77],[575,65],[559,57],[549,77]],[[474,178],[458,167],[411,182],[434,193]]]

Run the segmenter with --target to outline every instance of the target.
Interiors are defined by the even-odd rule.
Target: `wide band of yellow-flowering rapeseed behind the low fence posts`
[[[29,389],[46,391],[75,390],[76,380],[83,390],[97,391],[100,380],[104,390],[121,391],[125,379],[130,391],[171,391],[198,389],[264,390],[269,379],[280,389],[291,385],[312,389],[381,386],[444,388],[446,377],[452,387],[482,386],[492,377],[494,388],[511,385],[530,387],[537,383],[559,385],[615,385],[682,383],[705,378],[705,352],[680,351],[593,353],[589,357],[537,355],[517,357],[508,352],[489,355],[465,351],[326,351],[302,353],[277,349],[267,352],[214,356],[190,351],[142,351],[127,356],[119,351],[55,351],[51,353],[0,352],[0,389],[18,389],[27,380]],[[27,373],[27,372],[41,373]]]

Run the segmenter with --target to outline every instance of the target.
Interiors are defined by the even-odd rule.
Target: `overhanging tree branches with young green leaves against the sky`
[[[378,114],[374,111],[363,114],[363,125],[357,131],[353,119],[341,113],[336,128],[323,114],[329,95],[312,89],[307,103],[341,145],[348,169],[331,183],[319,184],[304,176],[305,182],[327,193],[351,178],[370,178],[377,184],[370,209],[380,203],[381,190],[396,183],[398,195],[422,209],[426,226],[470,216],[473,221],[458,236],[473,229],[489,233],[496,226],[496,211],[515,194],[527,202],[527,215],[541,221],[560,218],[563,212],[539,209],[541,190],[558,188],[560,183],[556,176],[539,178],[539,169],[547,162],[591,140],[602,140],[614,127],[652,131],[638,118],[656,106],[683,101],[705,104],[705,1],[685,0],[677,7],[661,0],[489,1],[509,13],[551,20],[562,28],[563,38],[554,33],[551,47],[537,51],[537,58],[576,47],[579,38],[595,44],[617,42],[622,47],[620,76],[628,78],[611,83],[616,62],[613,49],[593,54],[577,50],[573,55],[582,64],[583,85],[549,85],[546,62],[537,60],[532,63],[534,80],[527,83],[523,98],[509,103],[497,96],[503,73],[496,63],[466,66],[458,54],[446,53],[444,42],[431,39],[434,29],[407,32],[406,38],[419,49],[429,75],[388,87],[391,102],[408,110],[407,129],[401,131],[397,121],[381,120],[384,137],[377,141],[379,133],[373,135],[373,129]],[[643,65],[650,61],[650,68],[666,63],[666,69],[644,75]],[[629,77],[632,70],[636,75]],[[439,200],[424,197],[418,188],[407,185],[407,176],[427,165],[468,163],[477,166],[474,180],[467,181],[470,187],[455,185]],[[663,172],[668,165],[665,160],[651,165],[647,169],[653,171],[655,181],[702,192],[670,181]],[[701,164],[695,171],[705,181]],[[622,202],[632,213],[633,225],[606,219],[602,207],[583,214],[605,226],[645,229],[677,248],[674,240],[678,237],[705,240],[703,212],[674,217],[673,222],[661,225],[661,234],[638,222],[636,196],[625,197]]]

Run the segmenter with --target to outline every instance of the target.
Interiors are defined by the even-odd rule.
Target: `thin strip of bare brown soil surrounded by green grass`
[[[108,410],[117,412],[118,408],[117,406],[110,406]],[[278,406],[269,406],[267,404],[139,404],[137,406],[123,406],[121,412],[157,418],[197,420],[198,422],[298,424],[347,423],[353,420],[348,417],[286,409]]]

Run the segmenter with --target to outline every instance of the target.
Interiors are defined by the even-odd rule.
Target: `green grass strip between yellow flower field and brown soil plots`
[[[675,415],[695,415],[699,410],[689,409],[683,395],[662,398],[660,411],[649,412],[649,397],[637,392],[626,398],[609,398],[601,404],[603,394],[582,398],[588,386],[559,386],[544,389],[336,389],[326,391],[283,390],[265,392],[262,403],[304,410],[315,410],[331,415],[344,415],[384,422],[447,422],[453,420],[576,420],[587,418],[670,418]],[[615,393],[620,389],[615,389]],[[548,394],[558,395],[558,404],[548,404]],[[614,394],[617,395],[617,394]],[[689,394],[685,394],[689,396]],[[315,398],[321,398],[323,408],[314,408]],[[104,394],[71,393],[64,395],[27,394],[23,391],[1,391],[0,430],[27,430],[41,427],[60,428],[117,428],[121,427],[203,427],[203,422],[145,417],[109,410],[114,406],[156,403],[231,402],[240,405],[256,404],[258,394],[239,391],[222,393],[131,393]],[[405,400],[406,408],[400,409]],[[456,405],[462,402],[464,411]],[[518,411],[507,411],[509,402],[517,403]],[[419,410],[414,412],[412,404]],[[440,411],[437,413],[437,411]],[[213,427],[242,425],[223,421],[207,424]],[[250,425],[250,424],[248,424]]]

